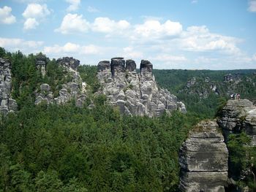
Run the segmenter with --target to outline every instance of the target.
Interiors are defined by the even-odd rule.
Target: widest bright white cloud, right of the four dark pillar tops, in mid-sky
[[[145,23],[135,26],[135,37],[158,39],[181,34],[181,23],[167,20],[160,23],[159,20],[146,20]]]

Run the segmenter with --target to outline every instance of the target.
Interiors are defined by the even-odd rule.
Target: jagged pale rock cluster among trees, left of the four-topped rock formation
[[[37,98],[35,104],[39,104],[42,101],[46,103],[64,104],[75,98],[76,105],[82,107],[84,101],[86,101],[86,82],[83,82],[77,68],[80,61],[74,58],[59,58],[57,64],[64,67],[64,74],[71,75],[72,81],[61,85],[59,96],[53,97],[53,92],[50,89],[50,85],[43,83],[40,85],[40,90],[37,91]]]

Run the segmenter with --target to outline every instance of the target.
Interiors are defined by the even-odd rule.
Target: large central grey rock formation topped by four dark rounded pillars
[[[126,115],[159,116],[163,112],[180,110],[186,107],[166,89],[158,88],[152,74],[153,65],[146,60],[140,64],[140,73],[136,72],[135,61],[124,58],[112,58],[100,61],[98,74],[101,90],[113,106],[119,107]]]

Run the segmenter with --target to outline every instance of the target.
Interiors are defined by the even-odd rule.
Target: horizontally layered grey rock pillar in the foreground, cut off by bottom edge
[[[198,123],[181,146],[180,191],[225,191],[227,160],[227,147],[217,123]]]

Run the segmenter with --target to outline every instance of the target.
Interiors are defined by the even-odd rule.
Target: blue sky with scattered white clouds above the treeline
[[[154,69],[256,69],[256,0],[0,0],[0,47]]]

